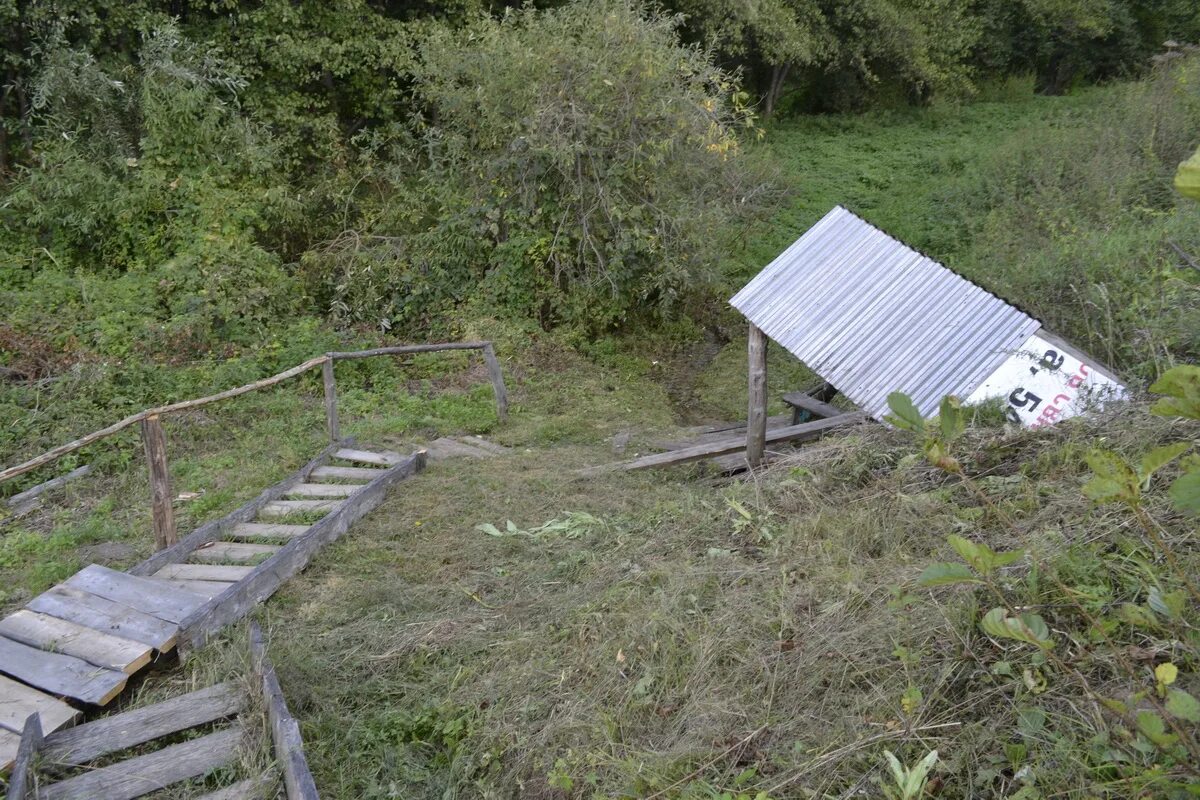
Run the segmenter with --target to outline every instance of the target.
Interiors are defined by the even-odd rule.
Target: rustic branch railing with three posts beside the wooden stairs
[[[304,363],[296,365],[290,369],[284,369],[283,372],[271,375],[270,378],[264,378],[262,380],[256,380],[253,383],[246,384],[244,386],[238,386],[235,389],[227,389],[223,392],[217,392],[216,395],[209,395],[208,397],[198,397],[196,399],[181,401],[179,403],[170,403],[168,405],[160,405],[157,408],[149,408],[144,411],[138,411],[131,416],[125,417],[120,422],[114,422],[107,428],[101,428],[100,431],[94,431],[88,435],[80,437],[73,441],[59,445],[52,450],[46,451],[41,456],[36,456],[25,461],[20,464],[8,467],[7,469],[0,470],[0,482],[17,477],[18,475],[24,475],[25,473],[32,471],[38,467],[44,467],[67,453],[72,453],[77,450],[86,447],[90,444],[95,444],[101,439],[107,439],[116,433],[120,433],[125,428],[134,425],[139,425],[142,428],[142,441],[145,447],[146,464],[150,473],[150,494],[154,504],[154,529],[155,529],[155,542],[158,549],[168,547],[178,540],[175,534],[175,517],[174,510],[170,505],[170,476],[167,464],[167,452],[166,452],[166,438],[163,437],[162,425],[160,417],[167,414],[175,414],[178,411],[186,411],[200,405],[208,405],[210,403],[217,403],[220,401],[238,397],[240,395],[246,395],[259,389],[266,389],[268,386],[274,386],[275,384],[288,380],[289,378],[295,378],[296,375],[304,374],[310,369],[316,369],[320,367],[322,369],[322,383],[324,385],[325,392],[325,426],[329,433],[330,441],[338,441],[341,439],[341,428],[337,420],[337,384],[334,377],[334,365],[337,361],[350,361],[355,359],[370,359],[380,355],[412,355],[416,353],[439,353],[443,350],[480,350],[484,355],[484,362],[487,365],[487,377],[492,383],[492,391],[496,396],[496,415],[500,422],[508,419],[509,413],[509,393],[504,386],[504,374],[500,371],[500,362],[496,357],[496,348],[491,342],[444,342],[438,344],[404,344],[397,347],[382,347],[373,348],[371,350],[350,350],[346,353],[326,353],[324,355],[317,356],[316,359],[310,359]]]

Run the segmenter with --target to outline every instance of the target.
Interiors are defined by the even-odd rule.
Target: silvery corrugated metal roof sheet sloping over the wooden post
[[[730,303],[876,420],[966,397],[1042,326],[841,206]]]

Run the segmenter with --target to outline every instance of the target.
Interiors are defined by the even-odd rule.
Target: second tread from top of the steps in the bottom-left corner
[[[240,724],[199,739],[170,745],[110,766],[100,766],[77,777],[38,789],[38,800],[133,800],[172,783],[204,775],[238,757]]]

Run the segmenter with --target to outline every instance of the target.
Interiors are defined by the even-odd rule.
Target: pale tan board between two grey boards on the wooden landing
[[[102,633],[65,619],[20,609],[0,620],[0,636],[40,650],[83,658],[127,675],[150,663],[154,648],[143,642]],[[53,728],[47,728],[53,730]]]

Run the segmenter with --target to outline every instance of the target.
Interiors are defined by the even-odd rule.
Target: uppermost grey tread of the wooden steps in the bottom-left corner
[[[162,703],[85,722],[46,736],[42,758],[55,764],[86,764],[160,736],[233,716],[245,697],[234,684],[216,684]]]

